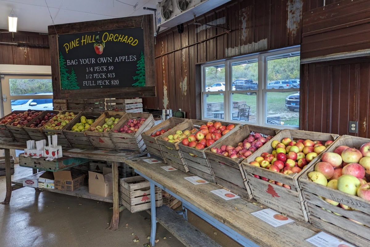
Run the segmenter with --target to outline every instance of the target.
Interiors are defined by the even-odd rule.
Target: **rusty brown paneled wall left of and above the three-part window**
[[[145,98],[144,107],[182,109],[186,117],[199,118],[200,76],[198,64],[258,51],[300,44],[301,0],[233,0],[196,18],[231,29],[184,23],[156,38],[157,97]]]

